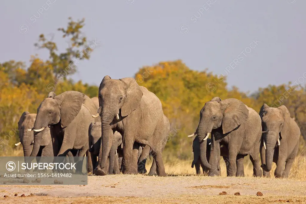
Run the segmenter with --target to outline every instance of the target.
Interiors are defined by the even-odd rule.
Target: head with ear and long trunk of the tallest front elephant
[[[110,149],[108,148],[113,141],[113,131],[111,125],[119,122],[139,107],[143,93],[140,86],[133,78],[111,79],[105,76],[99,86],[99,109],[102,122],[102,142],[100,146],[99,160],[101,174]]]

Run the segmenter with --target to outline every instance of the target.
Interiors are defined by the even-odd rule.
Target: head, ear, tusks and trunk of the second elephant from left
[[[85,95],[77,91],[66,91],[58,96],[50,93],[37,108],[36,120],[32,128],[35,133],[31,157],[37,156],[43,134],[47,131],[46,127],[56,124],[61,128],[67,127],[78,115],[85,100]]]

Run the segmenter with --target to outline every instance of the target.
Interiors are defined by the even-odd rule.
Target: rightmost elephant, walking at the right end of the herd
[[[263,104],[259,115],[262,119],[263,130],[260,144],[263,176],[270,177],[273,161],[276,163],[274,176],[288,178],[299,147],[300,128],[290,118],[290,113],[284,105],[271,108],[267,104]],[[279,146],[278,139],[280,140]],[[264,141],[266,149],[263,146]],[[283,171],[284,168],[285,171]]]

